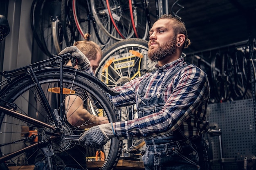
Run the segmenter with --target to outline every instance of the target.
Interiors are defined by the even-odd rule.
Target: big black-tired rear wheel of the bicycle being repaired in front
[[[117,111],[115,106],[110,102],[108,95],[102,90],[99,84],[94,83],[85,73],[76,71],[73,68],[63,68],[63,74],[60,74],[59,68],[52,67],[42,69],[35,74],[39,84],[31,79],[31,75],[20,75],[19,78],[14,79],[0,92],[0,106],[7,107],[8,105],[13,113],[17,112],[23,116],[21,119],[21,116],[15,117],[13,113],[10,114],[7,111],[0,112],[1,170],[8,170],[9,166],[22,167],[24,165],[34,164],[36,152],[41,147],[40,144],[45,144],[47,141],[51,141],[54,153],[67,152],[68,149],[82,147],[78,144],[77,140],[73,140],[72,137],[70,139],[69,136],[66,136],[81,132],[81,129],[79,129],[80,126],[71,127],[67,122],[66,112],[60,111],[62,110],[62,106],[65,105],[65,100],[69,99],[70,94],[76,93],[76,95],[80,95],[83,93],[85,95],[85,99],[88,101],[86,107],[88,113],[96,113],[95,116],[104,116],[109,122],[117,121]],[[63,93],[60,91],[61,76],[63,77]],[[38,97],[40,96],[39,86],[47,87],[43,91],[47,100]],[[75,90],[75,87],[80,90]],[[54,104],[54,101],[56,102],[53,97],[54,95],[59,97],[58,106]],[[63,97],[60,97],[61,95]],[[97,106],[94,105],[95,103],[97,103]],[[43,111],[47,113],[47,110],[44,110],[47,107],[40,107],[41,110],[37,109],[39,107],[36,106],[43,104],[48,104],[50,106],[48,108],[49,110],[55,110],[54,114],[57,119],[46,117],[46,115],[42,114]],[[46,124],[41,123],[42,119],[47,120]],[[63,120],[63,124],[60,123],[61,120]],[[83,125],[86,125],[86,122]],[[38,136],[35,134],[38,134]],[[88,148],[81,148],[80,150],[83,149]],[[121,152],[120,141],[117,138],[113,138],[101,150],[105,155],[105,157],[101,157],[103,159],[101,163],[93,162],[90,157],[86,159],[90,161],[91,166],[99,170],[110,170],[114,168]],[[88,152],[93,151],[89,150]],[[79,153],[75,154],[80,155]],[[96,152],[91,154],[95,155]],[[18,161],[21,160],[20,158],[24,160],[22,163]],[[67,159],[74,158],[70,155]],[[77,163],[79,165],[79,162]],[[80,169],[83,168],[81,167]]]

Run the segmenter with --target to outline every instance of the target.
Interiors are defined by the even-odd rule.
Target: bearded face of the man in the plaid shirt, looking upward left
[[[173,20],[160,19],[149,31],[148,57],[152,61],[161,61],[173,55],[176,48],[176,37],[173,31]]]

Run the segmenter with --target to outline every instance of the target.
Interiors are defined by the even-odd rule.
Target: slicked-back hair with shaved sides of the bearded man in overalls
[[[191,42],[188,39],[188,32],[186,31],[186,26],[185,26],[184,22],[182,22],[182,20],[180,20],[180,18],[177,18],[176,16],[173,16],[171,14],[168,14],[168,15],[164,14],[160,18],[158,18],[158,20],[160,20],[160,19],[171,19],[174,21],[173,29],[174,29],[175,36],[177,34],[184,34],[186,36],[186,39],[185,39],[183,48],[185,48],[185,49],[188,48],[188,46],[191,44]]]

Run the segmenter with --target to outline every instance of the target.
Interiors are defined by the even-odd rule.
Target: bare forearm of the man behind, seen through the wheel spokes
[[[87,100],[85,101],[87,102]],[[99,124],[108,123],[108,119],[102,116],[91,115],[88,110],[83,108],[83,100],[77,95],[69,95],[65,99],[67,121],[72,126],[79,128],[90,128]]]

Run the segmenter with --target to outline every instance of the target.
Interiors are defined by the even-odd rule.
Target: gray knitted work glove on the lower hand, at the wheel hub
[[[83,132],[79,138],[79,144],[99,149],[112,137],[115,137],[112,123],[101,124]]]

